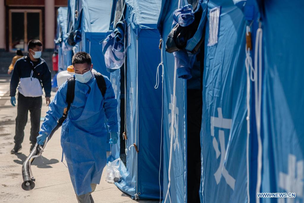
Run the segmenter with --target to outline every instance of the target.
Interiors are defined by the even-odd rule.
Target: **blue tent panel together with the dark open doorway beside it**
[[[164,75],[163,83],[160,83],[159,87],[164,92],[164,192],[162,198],[163,202],[167,203],[200,201],[203,61],[195,60],[191,70],[192,78],[186,80],[178,74],[177,59],[174,58],[174,54],[166,51],[168,35],[176,24],[173,19],[174,11],[187,4],[196,9],[199,6],[198,3],[199,1],[196,0],[188,2],[163,0],[157,23],[162,38],[163,67],[160,68],[163,71],[160,70],[160,72]],[[201,16],[202,12],[198,13],[198,22]],[[198,51],[196,54],[201,56],[202,52]]]

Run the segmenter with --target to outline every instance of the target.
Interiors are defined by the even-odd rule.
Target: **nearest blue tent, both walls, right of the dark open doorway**
[[[201,201],[302,202],[304,40],[299,24],[304,4],[234,3],[208,1]],[[247,50],[249,32],[252,48]],[[210,39],[216,43],[208,45]],[[259,192],[296,197],[258,198]]]

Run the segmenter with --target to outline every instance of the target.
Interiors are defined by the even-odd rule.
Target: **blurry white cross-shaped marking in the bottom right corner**
[[[295,155],[288,155],[288,174],[279,173],[279,187],[285,190],[287,193],[295,193],[297,197],[303,197],[304,189],[304,161],[300,160],[296,162]],[[281,198],[280,202],[284,202]],[[295,198],[287,198],[287,203],[295,202]]]

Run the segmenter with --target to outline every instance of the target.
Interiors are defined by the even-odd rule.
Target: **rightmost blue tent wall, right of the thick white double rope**
[[[258,1],[257,1],[258,2]],[[303,1],[258,2],[262,33],[261,170],[257,190],[304,201]],[[260,187],[260,188],[259,188]],[[269,198],[260,202],[275,202]]]

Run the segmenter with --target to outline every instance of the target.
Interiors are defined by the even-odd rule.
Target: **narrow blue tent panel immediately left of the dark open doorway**
[[[173,23],[173,12],[178,9],[178,1],[163,0],[161,13],[158,19],[157,27],[161,33],[163,64],[164,64],[164,192],[163,199],[166,202],[187,202],[187,87],[186,80],[174,79],[174,56],[165,51],[168,34],[171,31]],[[173,90],[174,81],[176,82],[175,93]],[[175,99],[173,98],[175,95]],[[174,102],[173,102],[174,100]],[[173,113],[174,110],[174,113]],[[172,115],[173,114],[173,115]],[[174,123],[172,122],[174,116]],[[168,171],[170,160],[170,138],[171,126],[173,126],[173,151],[170,174]],[[170,175],[170,176],[169,176]],[[170,189],[168,184],[170,181]]]

